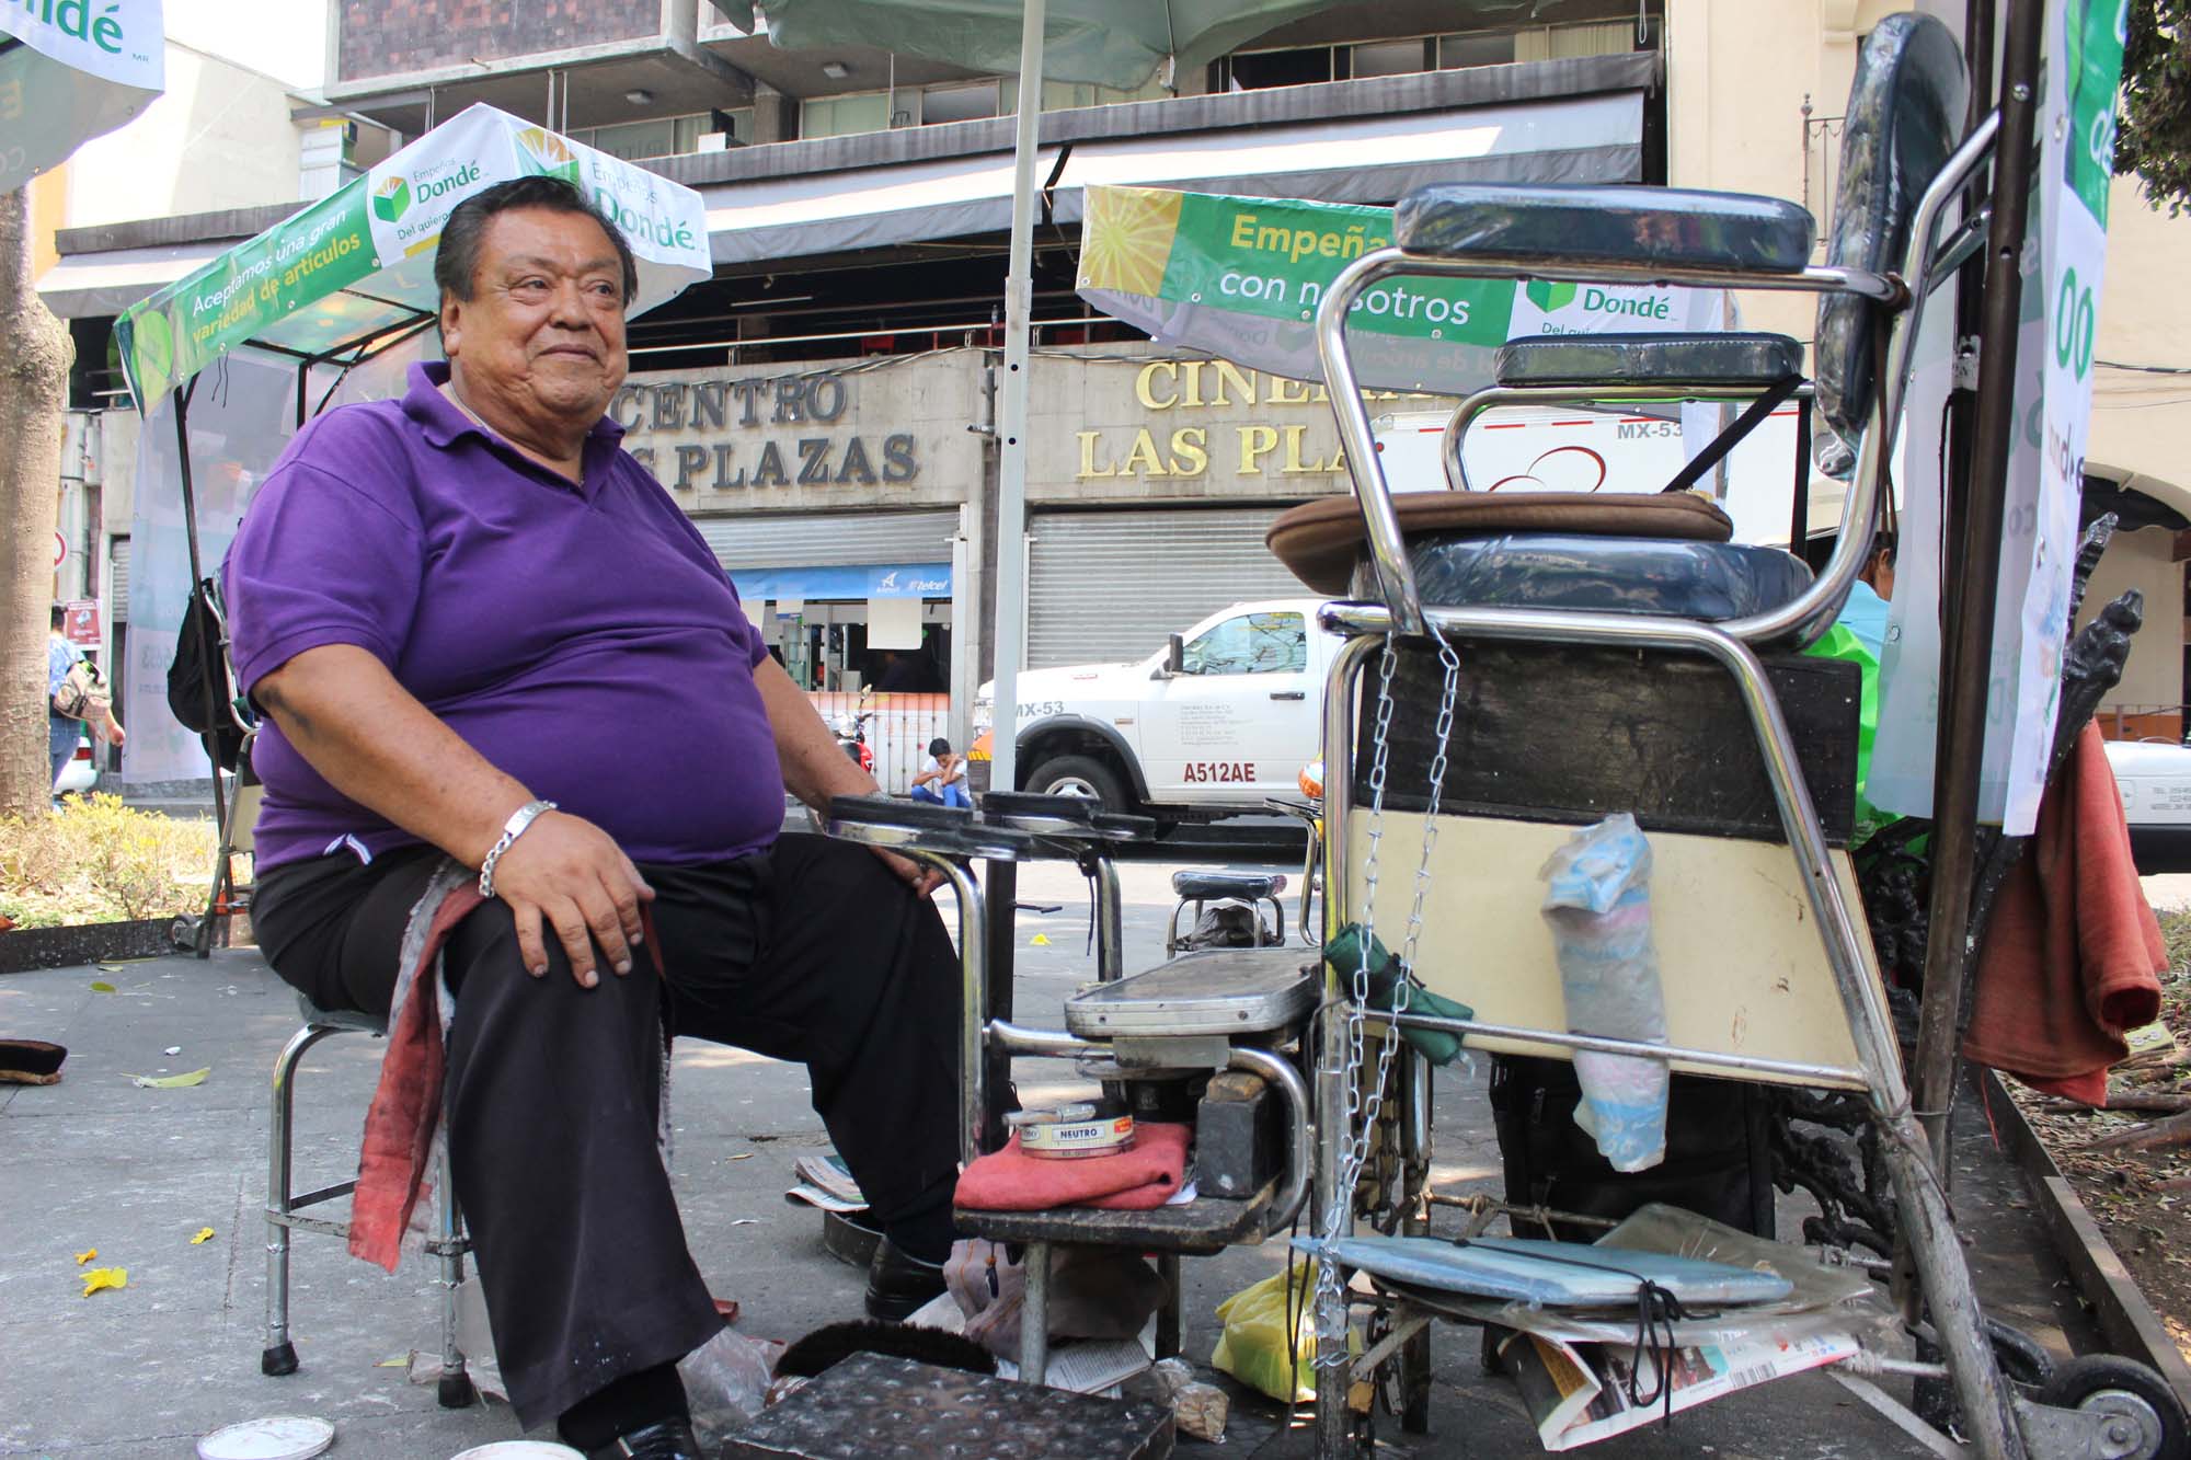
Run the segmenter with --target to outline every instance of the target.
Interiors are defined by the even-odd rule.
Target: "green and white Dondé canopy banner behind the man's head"
[[[320,355],[434,313],[434,250],[449,213],[528,175],[567,180],[618,221],[640,261],[631,313],[714,272],[699,193],[475,105],[123,313],[138,406],[151,410],[243,342]]]

